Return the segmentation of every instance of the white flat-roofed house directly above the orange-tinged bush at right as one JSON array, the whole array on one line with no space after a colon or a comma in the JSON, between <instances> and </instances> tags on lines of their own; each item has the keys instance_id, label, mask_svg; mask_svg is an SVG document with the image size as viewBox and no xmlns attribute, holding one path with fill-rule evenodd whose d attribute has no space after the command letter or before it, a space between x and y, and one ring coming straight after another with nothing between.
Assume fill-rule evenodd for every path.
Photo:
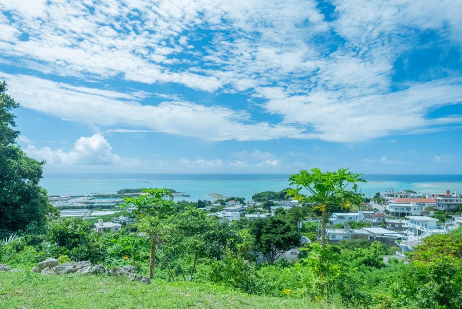
<instances>
[{"instance_id":1,"label":"white flat-roofed house directly above the orange-tinged bush at right","mask_svg":"<svg viewBox=\"0 0 462 309\"><path fill-rule=\"evenodd\" d=\"M406 216L409 219L405 227L407 240L419 241L433 234L446 234L448 229L437 224L438 219L427 216Z\"/></svg>"}]
</instances>

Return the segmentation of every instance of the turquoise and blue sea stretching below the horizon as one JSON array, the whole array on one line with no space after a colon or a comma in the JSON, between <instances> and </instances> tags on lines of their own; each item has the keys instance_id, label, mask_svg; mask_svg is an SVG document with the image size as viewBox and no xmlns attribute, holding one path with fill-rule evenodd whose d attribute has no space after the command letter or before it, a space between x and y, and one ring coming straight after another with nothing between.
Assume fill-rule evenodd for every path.
<instances>
[{"instance_id":1,"label":"turquoise and blue sea stretching below the horizon","mask_svg":"<svg viewBox=\"0 0 462 309\"><path fill-rule=\"evenodd\" d=\"M40 184L50 195L115 193L130 188L169 188L184 192L188 201L213 200L210 193L250 199L262 191L280 191L289 186L288 174L146 174L146 173L45 173ZM364 174L359 188L365 196L389 188L416 192L462 191L462 175L455 174Z\"/></svg>"}]
</instances>

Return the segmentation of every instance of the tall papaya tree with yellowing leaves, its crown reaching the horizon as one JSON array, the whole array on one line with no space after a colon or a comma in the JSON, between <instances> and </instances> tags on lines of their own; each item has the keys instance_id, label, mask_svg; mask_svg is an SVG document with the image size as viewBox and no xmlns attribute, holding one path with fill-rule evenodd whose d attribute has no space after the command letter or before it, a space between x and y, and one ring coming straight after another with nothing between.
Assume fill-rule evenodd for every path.
<instances>
[{"instance_id":1,"label":"tall papaya tree with yellowing leaves, its crown reaching the horizon","mask_svg":"<svg viewBox=\"0 0 462 309\"><path fill-rule=\"evenodd\" d=\"M361 196L356 193L358 182L366 182L359 178L361 174L348 172L348 169L339 169L337 172L322 173L319 168L313 168L310 172L301 170L298 174L290 176L291 185L297 185L296 189L287 190L289 196L300 200L302 203L314 205L313 209L322 212L321 218L321 246L326 243L326 221L332 207L342 206L345 209L361 203ZM353 191L346 190L348 185ZM311 195L300 194L302 188L308 190Z\"/></svg>"}]
</instances>

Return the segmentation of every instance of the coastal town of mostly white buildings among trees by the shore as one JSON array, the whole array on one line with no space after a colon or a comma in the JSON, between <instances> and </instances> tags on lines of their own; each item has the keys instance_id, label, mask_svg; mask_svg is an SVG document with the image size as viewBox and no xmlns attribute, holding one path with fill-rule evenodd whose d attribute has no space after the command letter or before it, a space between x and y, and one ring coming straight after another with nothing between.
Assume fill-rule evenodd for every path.
<instances>
[{"instance_id":1,"label":"coastal town of mostly white buildings among trees by the shore","mask_svg":"<svg viewBox=\"0 0 462 309\"><path fill-rule=\"evenodd\" d=\"M141 192L132 190L130 194L139 195ZM220 199L215 202L204 203L203 210L207 216L215 216L220 222L240 220L267 219L279 211L290 210L294 207L302 207L298 200L269 200L272 204L263 208L266 202L226 200L225 196L214 193ZM114 233L123 225L132 224L135 219L129 217L133 209L127 208L127 216L119 216L124 210L119 206L124 204L122 196L98 195L89 197L59 196L50 197L54 207L60 209L60 215L66 217L81 217L84 220L99 218L94 224L97 232L109 231ZM221 203L219 203L221 201ZM87 208L79 208L85 207ZM91 209L88 209L91 206ZM69 208L71 207L71 208ZM447 234L462 225L462 196L460 192L431 192L426 194L416 193L412 190L394 188L377 192L374 199L365 199L354 212L333 212L328 218L328 228L325 236L330 243L346 240L379 241L388 246L398 246L395 257L402 259L406 252L413 251L427 236L435 234ZM435 217L436 213L446 214L447 219L442 221ZM104 222L103 217L109 222ZM319 217L303 218L298 222L302 229L305 223L319 223ZM364 225L354 229L353 225ZM319 225L319 224L318 224ZM339 228L339 226L342 226ZM306 236L301 239L301 244L319 240L320 230L317 229L316 239L310 240ZM292 248L281 254L278 259L298 259L298 247ZM260 262L264 258L260 257Z\"/></svg>"}]
</instances>

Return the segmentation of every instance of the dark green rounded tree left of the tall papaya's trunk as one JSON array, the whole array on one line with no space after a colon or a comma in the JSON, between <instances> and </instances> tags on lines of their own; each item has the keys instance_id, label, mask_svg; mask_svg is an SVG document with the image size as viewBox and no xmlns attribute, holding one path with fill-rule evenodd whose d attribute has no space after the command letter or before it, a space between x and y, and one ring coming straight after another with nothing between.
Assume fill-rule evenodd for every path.
<instances>
[{"instance_id":1,"label":"dark green rounded tree left of the tall papaya's trunk","mask_svg":"<svg viewBox=\"0 0 462 309\"><path fill-rule=\"evenodd\" d=\"M256 219L250 233L255 238L255 251L273 264L287 250L300 245L300 230L283 216Z\"/></svg>"}]
</instances>

